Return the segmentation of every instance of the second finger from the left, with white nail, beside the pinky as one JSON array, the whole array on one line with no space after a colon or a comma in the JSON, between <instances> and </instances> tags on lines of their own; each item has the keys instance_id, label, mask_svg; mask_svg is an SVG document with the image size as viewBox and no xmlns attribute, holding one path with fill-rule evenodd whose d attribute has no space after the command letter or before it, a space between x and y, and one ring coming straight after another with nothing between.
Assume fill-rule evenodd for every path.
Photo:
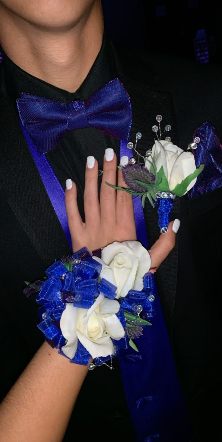
<instances>
[{"instance_id":1,"label":"second finger from the left, with white nail, beside the pinky","mask_svg":"<svg viewBox=\"0 0 222 442\"><path fill-rule=\"evenodd\" d=\"M98 224L100 208L98 200L98 162L94 156L87 157L84 189L84 211L86 225Z\"/></svg>"}]
</instances>

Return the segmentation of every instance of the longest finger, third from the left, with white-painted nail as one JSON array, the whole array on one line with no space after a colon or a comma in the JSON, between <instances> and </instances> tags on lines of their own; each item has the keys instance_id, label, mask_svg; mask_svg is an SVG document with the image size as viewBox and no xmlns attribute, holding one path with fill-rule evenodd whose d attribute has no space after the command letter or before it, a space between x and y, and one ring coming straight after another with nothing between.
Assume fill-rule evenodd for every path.
<instances>
[{"instance_id":1,"label":"longest finger, third from the left, with white-painted nail","mask_svg":"<svg viewBox=\"0 0 222 442\"><path fill-rule=\"evenodd\" d=\"M104 223L116 221L116 191L106 183L116 185L117 156L113 149L105 149L102 184L100 191L100 215Z\"/></svg>"}]
</instances>

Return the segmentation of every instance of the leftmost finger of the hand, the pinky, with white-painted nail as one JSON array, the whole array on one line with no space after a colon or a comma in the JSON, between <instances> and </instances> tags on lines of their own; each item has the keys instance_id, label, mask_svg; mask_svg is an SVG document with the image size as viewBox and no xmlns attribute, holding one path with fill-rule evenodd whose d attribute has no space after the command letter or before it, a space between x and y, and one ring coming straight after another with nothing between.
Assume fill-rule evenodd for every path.
<instances>
[{"instance_id":1,"label":"leftmost finger of the hand, the pinky, with white-painted nail","mask_svg":"<svg viewBox=\"0 0 222 442\"><path fill-rule=\"evenodd\" d=\"M67 179L65 191L65 207L68 217L68 226L71 235L73 250L77 247L77 245L74 243L76 242L76 239L81 236L84 228L82 218L79 215L76 197L76 185L73 181L71 181L71 179Z\"/></svg>"}]
</instances>

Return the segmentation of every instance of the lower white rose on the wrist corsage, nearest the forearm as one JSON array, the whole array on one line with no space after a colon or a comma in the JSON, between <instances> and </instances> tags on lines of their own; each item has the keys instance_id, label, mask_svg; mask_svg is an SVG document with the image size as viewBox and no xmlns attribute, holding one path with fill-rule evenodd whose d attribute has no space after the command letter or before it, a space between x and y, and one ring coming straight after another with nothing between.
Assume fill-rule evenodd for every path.
<instances>
[{"instance_id":1,"label":"lower white rose on the wrist corsage, nearest the forearm","mask_svg":"<svg viewBox=\"0 0 222 442\"><path fill-rule=\"evenodd\" d=\"M102 293L90 309L78 309L67 303L60 319L62 335L67 339L63 353L72 359L78 346L78 339L92 358L114 354L112 339L124 337L125 331L117 318L120 309L118 301L105 298Z\"/></svg>"}]
</instances>

